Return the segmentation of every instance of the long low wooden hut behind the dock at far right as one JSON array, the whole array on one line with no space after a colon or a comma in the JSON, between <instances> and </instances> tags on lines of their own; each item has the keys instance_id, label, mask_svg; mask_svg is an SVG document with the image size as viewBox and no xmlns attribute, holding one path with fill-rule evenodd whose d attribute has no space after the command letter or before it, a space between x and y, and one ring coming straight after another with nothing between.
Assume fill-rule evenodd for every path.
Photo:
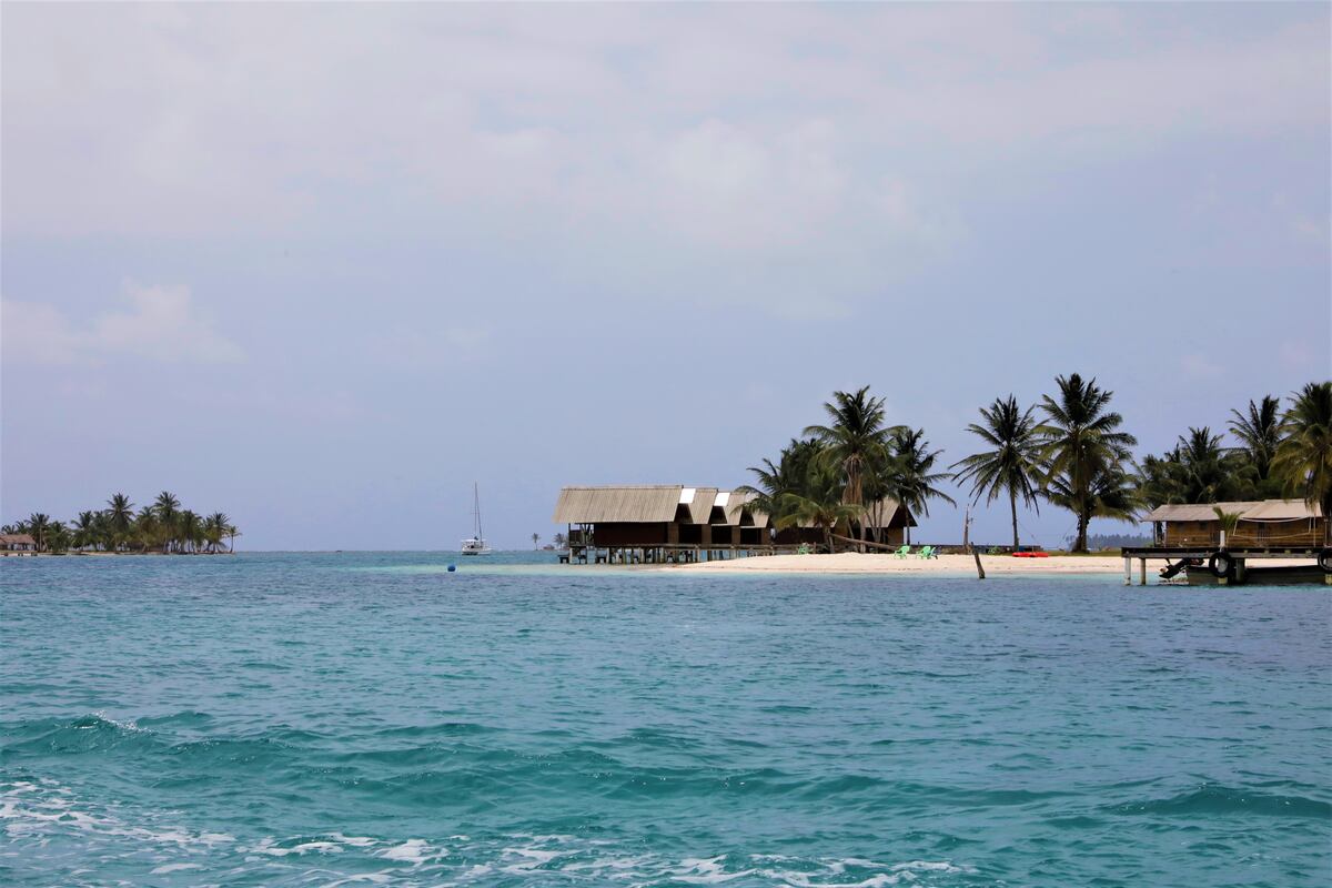
<instances>
[{"instance_id":1,"label":"long low wooden hut behind the dock at far right","mask_svg":"<svg viewBox=\"0 0 1332 888\"><path fill-rule=\"evenodd\" d=\"M1235 530L1227 535L1231 549L1283 549L1327 546L1328 522L1317 506L1300 501L1259 499L1221 503L1171 503L1158 506L1143 517L1152 522L1158 546L1183 549L1216 549L1221 545L1220 509L1239 515Z\"/></svg>"}]
</instances>

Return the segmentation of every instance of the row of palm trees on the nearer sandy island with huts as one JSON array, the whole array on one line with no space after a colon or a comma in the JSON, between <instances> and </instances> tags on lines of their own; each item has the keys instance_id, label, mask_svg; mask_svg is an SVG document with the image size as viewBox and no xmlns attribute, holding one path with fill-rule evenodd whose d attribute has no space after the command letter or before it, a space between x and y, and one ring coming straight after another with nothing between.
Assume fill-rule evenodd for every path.
<instances>
[{"instance_id":1,"label":"row of palm trees on the nearer sandy island with huts","mask_svg":"<svg viewBox=\"0 0 1332 888\"><path fill-rule=\"evenodd\" d=\"M823 405L826 425L806 427L777 459L751 466L755 482L739 490L777 529L818 527L829 547L834 533L872 539L886 498L924 517L931 501L954 503L938 486L948 479L970 486L972 505L1008 502L1014 547L1019 501L1072 513L1080 553L1092 518L1131 521L1163 503L1284 497L1332 515L1332 382L1305 385L1284 410L1272 395L1232 410L1233 445L1208 426L1191 427L1169 451L1142 462L1112 399L1078 373L1056 377L1054 391L1026 407L1012 394L995 398L967 426L982 449L943 469L943 451L930 449L924 430L888 425L883 398L868 386L835 391ZM910 542L910 527L907 534Z\"/></svg>"}]
</instances>

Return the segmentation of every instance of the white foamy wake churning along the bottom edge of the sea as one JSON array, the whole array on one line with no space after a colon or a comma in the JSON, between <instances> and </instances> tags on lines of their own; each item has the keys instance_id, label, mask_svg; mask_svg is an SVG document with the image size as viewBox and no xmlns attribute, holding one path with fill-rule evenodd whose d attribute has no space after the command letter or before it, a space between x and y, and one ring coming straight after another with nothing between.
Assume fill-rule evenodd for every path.
<instances>
[{"instance_id":1,"label":"white foamy wake churning along the bottom edge of the sea","mask_svg":"<svg viewBox=\"0 0 1332 888\"><path fill-rule=\"evenodd\" d=\"M880 861L866 857L729 852L673 857L643 851L637 841L577 835L501 833L433 837L344 835L341 832L242 840L197 832L161 816L143 823L128 812L93 811L51 780L0 783L0 821L11 845L39 864L61 835L95 835L116 841L117 867L140 867L156 884L496 884L511 879L546 884L597 885L607 881L645 888L679 884L786 885L789 888L883 888L910 884L975 884L971 865L952 860ZM99 845L107 849L108 845ZM137 864L135 863L137 861ZM43 869L59 873L59 859ZM55 869L51 869L55 867ZM55 876L92 884L89 871ZM517 884L517 883L514 883Z\"/></svg>"}]
</instances>

